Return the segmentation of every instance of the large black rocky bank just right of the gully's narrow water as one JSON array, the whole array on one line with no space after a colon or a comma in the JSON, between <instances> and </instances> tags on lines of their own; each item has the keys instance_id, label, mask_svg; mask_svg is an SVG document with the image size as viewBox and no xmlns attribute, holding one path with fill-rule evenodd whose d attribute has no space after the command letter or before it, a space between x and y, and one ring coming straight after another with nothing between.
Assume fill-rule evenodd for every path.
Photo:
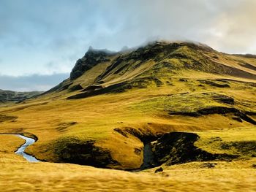
<instances>
[{"instance_id":1,"label":"large black rocky bank just right of the gully's narrow water","mask_svg":"<svg viewBox=\"0 0 256 192\"><path fill-rule=\"evenodd\" d=\"M171 132L165 134L154 144L153 153L157 163L167 165L182 164L190 161L212 161L214 159L233 159L238 155L211 154L194 145L199 139L197 134Z\"/></svg>"}]
</instances>

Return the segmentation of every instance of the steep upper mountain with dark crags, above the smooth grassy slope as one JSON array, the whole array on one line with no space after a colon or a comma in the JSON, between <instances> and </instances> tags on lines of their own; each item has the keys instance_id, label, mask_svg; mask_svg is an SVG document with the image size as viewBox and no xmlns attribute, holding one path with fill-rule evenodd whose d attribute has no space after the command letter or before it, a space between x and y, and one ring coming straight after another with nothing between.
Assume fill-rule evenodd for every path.
<instances>
[{"instance_id":1,"label":"steep upper mountain with dark crags, above the smooth grassy slope","mask_svg":"<svg viewBox=\"0 0 256 192\"><path fill-rule=\"evenodd\" d=\"M152 42L145 47L116 53L90 48L76 62L70 78L47 93L81 90L82 93L70 99L83 98L136 86L146 87L153 82L160 85L167 77L192 71L256 80L253 58L252 55L219 53L207 45L193 42Z\"/></svg>"}]
</instances>

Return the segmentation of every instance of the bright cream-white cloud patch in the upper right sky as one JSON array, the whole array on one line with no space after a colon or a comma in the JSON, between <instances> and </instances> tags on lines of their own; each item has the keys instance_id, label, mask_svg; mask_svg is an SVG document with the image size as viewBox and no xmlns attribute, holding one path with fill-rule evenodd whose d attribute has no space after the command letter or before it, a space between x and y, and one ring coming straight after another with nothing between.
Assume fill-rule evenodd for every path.
<instances>
[{"instance_id":1,"label":"bright cream-white cloud patch in the upper right sky","mask_svg":"<svg viewBox=\"0 0 256 192\"><path fill-rule=\"evenodd\" d=\"M222 11L211 23L213 35L206 43L228 53L256 53L256 1L238 1L236 7Z\"/></svg>"}]
</instances>

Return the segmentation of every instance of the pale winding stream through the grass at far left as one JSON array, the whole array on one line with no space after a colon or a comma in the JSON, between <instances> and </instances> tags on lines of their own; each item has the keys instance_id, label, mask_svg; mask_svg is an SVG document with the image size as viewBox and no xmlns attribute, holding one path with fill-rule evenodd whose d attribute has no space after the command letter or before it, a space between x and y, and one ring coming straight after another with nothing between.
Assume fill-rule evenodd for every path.
<instances>
[{"instance_id":1,"label":"pale winding stream through the grass at far left","mask_svg":"<svg viewBox=\"0 0 256 192\"><path fill-rule=\"evenodd\" d=\"M29 145L34 144L34 142L36 142L35 139L29 138L29 137L25 137L21 134L15 134L16 136L26 140L26 143L24 143L23 145L21 145L18 150L15 151L16 154L23 156L23 158L26 158L27 161L29 162L39 162L39 160L37 158L35 158L33 155L29 155L27 153L25 153L26 147L29 147Z\"/></svg>"}]
</instances>

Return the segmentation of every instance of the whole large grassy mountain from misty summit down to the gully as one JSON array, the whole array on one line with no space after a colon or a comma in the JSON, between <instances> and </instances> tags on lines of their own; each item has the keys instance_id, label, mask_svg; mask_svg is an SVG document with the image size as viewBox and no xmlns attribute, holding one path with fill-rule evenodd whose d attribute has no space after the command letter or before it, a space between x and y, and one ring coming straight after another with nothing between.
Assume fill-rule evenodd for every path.
<instances>
[{"instance_id":1,"label":"whole large grassy mountain from misty summit down to the gully","mask_svg":"<svg viewBox=\"0 0 256 192\"><path fill-rule=\"evenodd\" d=\"M42 161L111 169L250 159L255 93L252 55L195 42L90 48L67 80L1 107L0 131L37 138L26 152Z\"/></svg>"}]
</instances>

